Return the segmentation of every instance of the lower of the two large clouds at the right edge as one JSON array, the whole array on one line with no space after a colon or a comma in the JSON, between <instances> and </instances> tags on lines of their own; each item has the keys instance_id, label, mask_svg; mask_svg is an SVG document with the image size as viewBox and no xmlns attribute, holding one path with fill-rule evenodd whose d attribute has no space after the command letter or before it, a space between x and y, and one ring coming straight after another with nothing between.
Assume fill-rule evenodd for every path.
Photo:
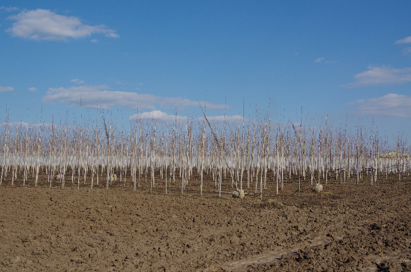
<instances>
[{"instance_id":1,"label":"lower of the two large clouds at the right edge","mask_svg":"<svg viewBox=\"0 0 411 272\"><path fill-rule=\"evenodd\" d=\"M357 114L411 118L411 96L387 94L378 98L356 101Z\"/></svg>"}]
</instances>

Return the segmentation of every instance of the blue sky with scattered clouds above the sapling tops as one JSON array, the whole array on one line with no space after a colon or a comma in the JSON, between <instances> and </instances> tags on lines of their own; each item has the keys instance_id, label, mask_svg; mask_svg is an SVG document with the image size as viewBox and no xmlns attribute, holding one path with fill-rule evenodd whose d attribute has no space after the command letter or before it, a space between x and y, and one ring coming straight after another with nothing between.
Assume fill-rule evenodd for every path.
<instances>
[{"instance_id":1,"label":"blue sky with scattered clouds above the sapling tops","mask_svg":"<svg viewBox=\"0 0 411 272\"><path fill-rule=\"evenodd\" d=\"M303 106L311 125L411 133L409 1L1 5L2 122L78 118L80 98L91 119L197 118L207 99L210 117L298 122Z\"/></svg>"}]
</instances>

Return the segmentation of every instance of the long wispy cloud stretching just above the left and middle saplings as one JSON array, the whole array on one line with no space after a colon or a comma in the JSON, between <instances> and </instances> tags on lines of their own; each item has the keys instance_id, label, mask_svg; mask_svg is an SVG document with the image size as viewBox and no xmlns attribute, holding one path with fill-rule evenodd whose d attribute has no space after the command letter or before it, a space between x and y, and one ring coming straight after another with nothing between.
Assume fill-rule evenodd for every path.
<instances>
[{"instance_id":1,"label":"long wispy cloud stretching just above the left and middle saplings","mask_svg":"<svg viewBox=\"0 0 411 272\"><path fill-rule=\"evenodd\" d=\"M198 107L197 101L192 101L180 97L159 97L149 94L138 94L130 92L120 92L108 90L106 85L90 86L72 86L69 88L49 88L43 102L52 103L60 101L69 106L79 106L80 99L82 105L91 108L111 108L114 106L123 106L127 108L138 108L146 110L156 110L157 106L171 107ZM206 104L207 109L222 110L223 104L215 104L200 101L201 105Z\"/></svg>"}]
</instances>

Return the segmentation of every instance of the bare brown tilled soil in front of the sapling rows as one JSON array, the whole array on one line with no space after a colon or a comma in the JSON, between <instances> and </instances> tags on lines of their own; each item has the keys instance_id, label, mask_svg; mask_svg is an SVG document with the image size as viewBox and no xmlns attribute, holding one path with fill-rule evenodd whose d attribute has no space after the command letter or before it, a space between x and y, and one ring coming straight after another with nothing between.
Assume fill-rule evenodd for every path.
<instances>
[{"instance_id":1,"label":"bare brown tilled soil in front of the sapling rows","mask_svg":"<svg viewBox=\"0 0 411 272\"><path fill-rule=\"evenodd\" d=\"M200 196L193 181L165 194L160 179L150 193L41 178L0 186L2 271L411 271L411 177L306 181L300 197L295 180L278 196L268 183L262 201L254 183L240 200L212 180Z\"/></svg>"}]
</instances>

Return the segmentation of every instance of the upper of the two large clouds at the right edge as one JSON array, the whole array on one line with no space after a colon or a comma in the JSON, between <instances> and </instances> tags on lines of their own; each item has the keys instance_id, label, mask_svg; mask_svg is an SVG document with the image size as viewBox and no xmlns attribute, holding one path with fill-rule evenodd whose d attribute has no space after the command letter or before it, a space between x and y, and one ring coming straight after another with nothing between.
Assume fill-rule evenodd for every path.
<instances>
[{"instance_id":1,"label":"upper of the two large clouds at the right edge","mask_svg":"<svg viewBox=\"0 0 411 272\"><path fill-rule=\"evenodd\" d=\"M411 68L395 69L390 66L368 66L367 71L354 76L355 82L344 85L347 88L378 84L404 84L411 82Z\"/></svg>"}]
</instances>

